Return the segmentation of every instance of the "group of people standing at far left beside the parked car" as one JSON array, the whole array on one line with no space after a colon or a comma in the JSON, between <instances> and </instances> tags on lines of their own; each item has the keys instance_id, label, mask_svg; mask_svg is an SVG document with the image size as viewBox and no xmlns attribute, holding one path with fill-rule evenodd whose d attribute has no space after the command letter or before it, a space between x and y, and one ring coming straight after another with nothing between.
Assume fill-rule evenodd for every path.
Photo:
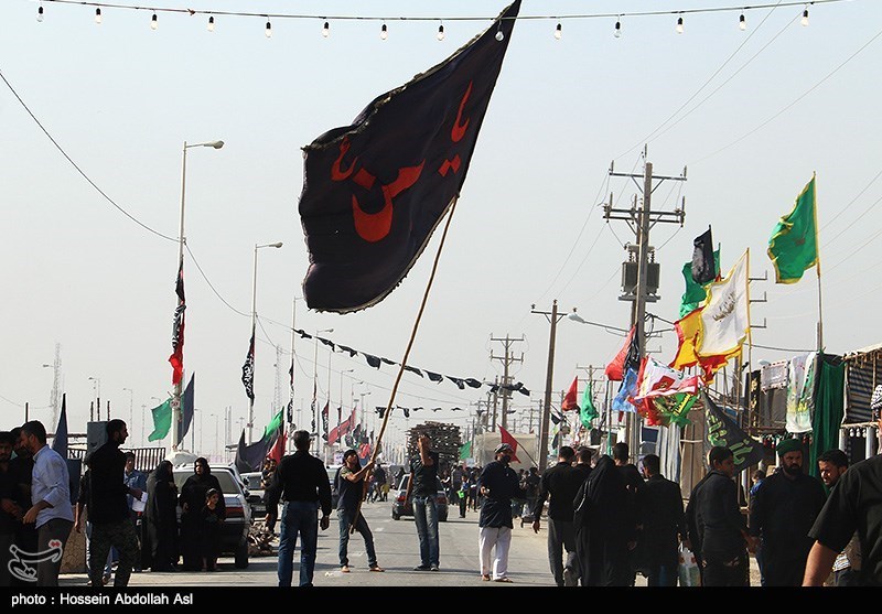
<instances>
[{"instance_id":1,"label":"group of people standing at far left beside the parked car","mask_svg":"<svg viewBox=\"0 0 882 614\"><path fill-rule=\"evenodd\" d=\"M170 461L149 474L136 468L135 453L120 450L126 422L105 428L107 440L80 476L46 445L42 422L0 431L0 586L57 586L72 531L85 531L83 562L93 586L112 580L125 588L132 572L147 569L217 570L226 514L208 462L196 459L179 493Z\"/></svg>"}]
</instances>

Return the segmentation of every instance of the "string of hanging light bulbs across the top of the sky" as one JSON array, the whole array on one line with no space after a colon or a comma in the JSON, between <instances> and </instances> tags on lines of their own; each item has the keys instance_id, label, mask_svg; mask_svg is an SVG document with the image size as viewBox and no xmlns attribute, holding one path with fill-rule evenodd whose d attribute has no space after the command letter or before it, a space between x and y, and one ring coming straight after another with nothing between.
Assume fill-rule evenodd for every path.
<instances>
[{"instance_id":1,"label":"string of hanging light bulbs across the top of the sky","mask_svg":"<svg viewBox=\"0 0 882 614\"><path fill-rule=\"evenodd\" d=\"M738 6L738 7L707 7L707 8L695 8L695 9L686 9L686 10L667 10L667 11L635 11L635 12L622 12L622 13L583 13L583 14L568 14L568 15L518 15L518 20L547 20L547 21L555 21L557 24L555 25L555 30L552 32L553 37L556 40L561 40L563 37L563 22L570 20L584 20L584 19L615 19L615 25L613 26L613 35L619 39L622 37L623 28L622 23L624 19L633 19L633 18L645 18L645 17L662 17L662 15L677 15L675 31L678 34L682 34L686 32L686 22L684 15L687 14L698 14L698 13L719 13L719 12L736 12L739 14L738 18L738 28L742 31L747 29L747 18L746 14L751 11L762 10L762 9L779 9L786 7L804 7L803 9L803 17L800 23L806 26L808 25L808 8L815 4L831 4L831 3L839 3L839 2L851 2L856 0L810 0L806 2L805 0L794 0L790 2L766 2L766 3L757 3L757 4L750 4L750 6ZM56 4L77 4L77 6L85 6L85 7L95 7L95 23L100 24L103 22L103 14L101 9L119 9L119 10L132 10L132 11L149 11L151 13L150 17L150 29L158 30L159 29L159 14L160 13L181 13L187 14L190 17L194 15L206 15L207 17L207 30L208 32L215 31L215 23L216 18L219 17L237 17L237 18L262 18L266 19L266 25L263 28L265 35L267 39L272 37L272 22L271 20L287 20L287 19L295 19L295 20L315 20L322 23L321 28L321 35L323 37L329 37L331 35L331 22L332 21L379 21L380 24L380 32L379 37L381 40L387 40L389 36L389 28L386 21L437 21L438 25L438 33L435 37L439 41L444 40L444 21L493 21L495 17L367 17L367 15L315 15L315 14L298 14L298 13L254 13L254 12L240 12L240 11L216 11L211 9L203 9L203 10L195 10L195 9L179 9L179 8L160 8L160 7L132 7L129 4L115 4L108 2L83 2L79 0L41 0L40 4L36 10L36 20L43 21L45 17L45 10L43 4L49 3L56 3ZM497 33L497 37L502 35L502 32Z\"/></svg>"}]
</instances>

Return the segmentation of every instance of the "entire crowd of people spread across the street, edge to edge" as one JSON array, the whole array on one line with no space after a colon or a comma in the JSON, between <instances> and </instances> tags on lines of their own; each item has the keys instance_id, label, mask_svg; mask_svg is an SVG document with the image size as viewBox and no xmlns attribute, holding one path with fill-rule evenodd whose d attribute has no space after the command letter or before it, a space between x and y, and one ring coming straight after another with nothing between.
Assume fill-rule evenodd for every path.
<instances>
[{"instance_id":1,"label":"entire crowd of people spread across the street, edge to edge","mask_svg":"<svg viewBox=\"0 0 882 614\"><path fill-rule=\"evenodd\" d=\"M872 410L882 429L882 386L876 392ZM0 585L56 586L71 532L84 529L93 586L112 575L114 586L125 588L132 572L174 571L179 563L187 571L217 570L226 509L208 462L196 459L179 492L171 462L148 475L136 468L135 454L120 450L128 438L122 420L109 420L106 434L86 460L74 500L68 464L46 445L41 422L0 432ZM309 451L310 433L297 431L293 443L295 452L263 475L267 525L281 524L280 586L292 584L298 540L298 583L312 585L318 531L329 528L333 507L324 463ZM399 484L410 476L415 571L440 570L440 481L460 517L478 513L476 568L483 581L513 582L514 520L538 534L545 514L549 567L559 586L633 586L638 573L649 586L676 586L682 549L695 553L706 586L750 585L751 553L764 586L882 584L882 455L850 467L845 452L829 450L817 459L816 478L800 440L786 439L777 445L775 471L754 472L745 515L729 448L710 450L708 473L686 506L657 455L643 456L638 468L621 442L611 455L563 445L541 475L537 467L516 472L514 452L502 443L483 467L442 467L431 438L418 438L407 468L392 476ZM369 571L383 572L361 505L386 500L391 472L374 461L362 464L355 450L343 461L336 483L341 572L349 572L354 532L364 539Z\"/></svg>"}]
</instances>

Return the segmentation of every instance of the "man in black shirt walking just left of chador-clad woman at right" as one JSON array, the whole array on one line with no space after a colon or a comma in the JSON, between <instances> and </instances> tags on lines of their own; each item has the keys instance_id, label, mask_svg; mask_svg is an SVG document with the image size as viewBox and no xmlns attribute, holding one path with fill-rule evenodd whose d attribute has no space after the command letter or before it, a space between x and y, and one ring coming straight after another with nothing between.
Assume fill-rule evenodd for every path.
<instances>
[{"instance_id":1,"label":"man in black shirt walking just left of chador-clad woman at right","mask_svg":"<svg viewBox=\"0 0 882 614\"><path fill-rule=\"evenodd\" d=\"M562 445L558 463L545 470L539 483L539 496L533 508L533 530L539 532L542 507L548 504L548 562L558 586L576 586L579 582L579 559L576 556L576 527L572 524L572 507L576 492L588 474L577 473L572 466L576 452ZM566 562L563 550L567 551Z\"/></svg>"}]
</instances>

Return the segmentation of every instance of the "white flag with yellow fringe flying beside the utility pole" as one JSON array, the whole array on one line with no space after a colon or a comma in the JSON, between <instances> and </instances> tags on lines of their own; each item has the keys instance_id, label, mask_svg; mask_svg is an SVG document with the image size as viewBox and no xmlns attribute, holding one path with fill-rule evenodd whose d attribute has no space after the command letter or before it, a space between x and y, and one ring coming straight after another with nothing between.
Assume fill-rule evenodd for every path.
<instances>
[{"instance_id":1,"label":"white flag with yellow fringe flying beside the utility pole","mask_svg":"<svg viewBox=\"0 0 882 614\"><path fill-rule=\"evenodd\" d=\"M708 287L696 344L699 356L731 354L741 348L747 338L751 325L749 261L750 250L744 252L725 279Z\"/></svg>"}]
</instances>

